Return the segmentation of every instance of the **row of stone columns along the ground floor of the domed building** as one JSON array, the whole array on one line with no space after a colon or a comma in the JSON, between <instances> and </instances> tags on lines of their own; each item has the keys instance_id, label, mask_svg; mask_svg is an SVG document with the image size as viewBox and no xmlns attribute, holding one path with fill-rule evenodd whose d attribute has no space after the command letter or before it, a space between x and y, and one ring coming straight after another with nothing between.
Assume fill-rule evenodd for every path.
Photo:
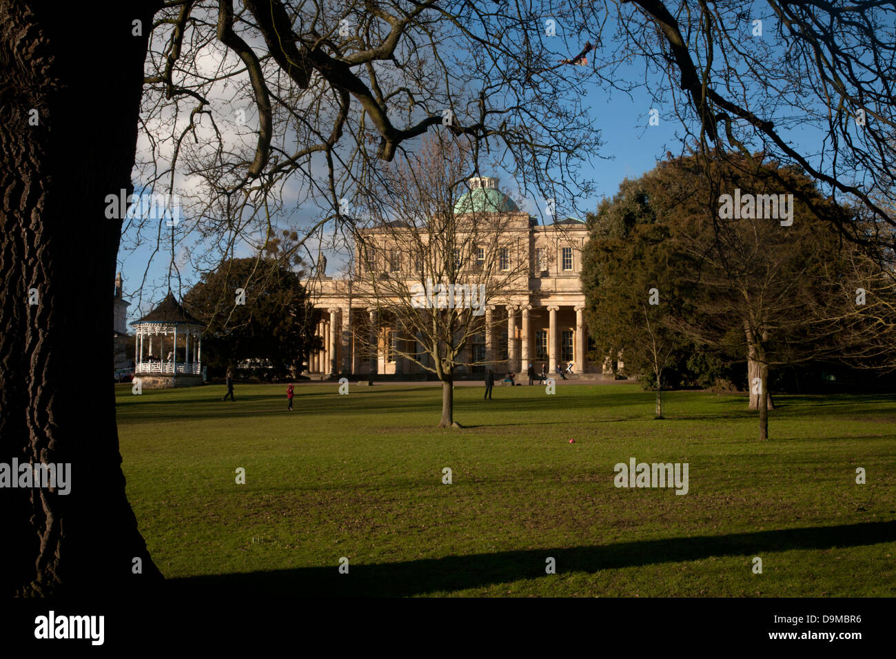
<instances>
[{"instance_id":1,"label":"row of stone columns along the ground floor of the domed building","mask_svg":"<svg viewBox=\"0 0 896 659\"><path fill-rule=\"evenodd\" d=\"M573 373L601 372L602 364L587 360L588 336L584 323L582 301L558 300L551 303L511 301L507 304L491 304L485 308L485 332L479 345L485 343L486 364L495 374L513 371L524 378L529 365L538 373L545 364L550 373L559 364L573 362ZM320 377L341 375L392 375L414 376L426 373L426 369L412 360L403 359L391 350L391 343L399 351L419 353L417 336L399 336L385 333L392 330L387 318L379 317L376 308L321 306L323 317L315 334L322 339L323 349L315 351L308 360L307 373ZM393 330L392 330L393 331ZM362 336L358 332L369 333ZM393 343L394 342L394 343ZM506 343L506 350L504 350ZM362 348L376 345L375 354L365 359ZM473 361L473 346L461 352L461 361ZM426 357L424 357L426 359ZM481 359L481 357L479 358ZM538 363L536 363L538 362ZM426 363L429 363L427 360ZM470 367L458 369L458 376L471 374Z\"/></svg>"}]
</instances>

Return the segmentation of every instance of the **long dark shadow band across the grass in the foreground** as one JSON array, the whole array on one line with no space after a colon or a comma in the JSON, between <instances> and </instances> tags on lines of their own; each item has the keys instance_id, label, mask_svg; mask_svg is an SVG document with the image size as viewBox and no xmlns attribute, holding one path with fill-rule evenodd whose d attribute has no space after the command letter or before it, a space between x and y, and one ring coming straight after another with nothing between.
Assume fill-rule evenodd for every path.
<instances>
[{"instance_id":1,"label":"long dark shadow band across the grass in the foreground","mask_svg":"<svg viewBox=\"0 0 896 659\"><path fill-rule=\"evenodd\" d=\"M339 556L334 553L332 566L325 568L185 577L169 580L166 589L168 594L203 597L213 594L232 597L246 593L292 597L403 597L544 577L548 557L556 559L558 573L594 573L602 569L700 560L711 556L741 557L746 570L754 556L762 557L771 551L824 550L893 541L896 541L896 522L870 522L350 565L349 575L339 573Z\"/></svg>"}]
</instances>

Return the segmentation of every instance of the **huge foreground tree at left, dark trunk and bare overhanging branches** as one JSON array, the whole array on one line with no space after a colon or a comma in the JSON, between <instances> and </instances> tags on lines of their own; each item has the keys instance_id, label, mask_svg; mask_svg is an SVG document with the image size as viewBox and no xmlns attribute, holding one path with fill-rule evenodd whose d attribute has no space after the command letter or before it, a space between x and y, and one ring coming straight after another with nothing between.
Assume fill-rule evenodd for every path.
<instances>
[{"instance_id":1,"label":"huge foreground tree at left, dark trunk and bare overhanging branches","mask_svg":"<svg viewBox=\"0 0 896 659\"><path fill-rule=\"evenodd\" d=\"M320 212L285 227L300 231L297 250L328 222L350 233L341 198L430 131L470 138L477 169L507 169L561 210L588 194L577 167L599 141L577 77L527 79L556 56L521 47L544 31L536 5L4 0L0 15L0 458L70 463L79 483L67 498L3 490L6 593L160 577L125 498L108 389L123 231L125 247L168 252L182 295L187 260L211 270L246 243L261 252L303 202ZM181 203L167 218L108 204L135 189Z\"/></svg>"}]
</instances>

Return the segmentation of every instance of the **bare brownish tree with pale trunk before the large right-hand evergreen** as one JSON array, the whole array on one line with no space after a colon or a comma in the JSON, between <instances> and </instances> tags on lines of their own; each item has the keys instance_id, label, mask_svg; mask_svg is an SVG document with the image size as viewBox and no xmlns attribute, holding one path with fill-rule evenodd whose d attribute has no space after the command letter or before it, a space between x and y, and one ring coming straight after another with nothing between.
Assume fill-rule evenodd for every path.
<instances>
[{"instance_id":1,"label":"bare brownish tree with pale trunk before the large right-hand evergreen","mask_svg":"<svg viewBox=\"0 0 896 659\"><path fill-rule=\"evenodd\" d=\"M753 158L760 160L758 155ZM724 162L714 166L727 167ZM682 162L676 167L682 167ZM796 201L814 195L814 207L830 206L824 210L828 217L840 214L844 222L850 217L849 209L820 198L813 181L793 169L767 162L752 179L740 178L737 170L719 175L732 190L743 186L763 193L755 196L754 211L742 215L738 209L737 216L720 222L718 203L715 216L701 212L702 206L711 204L704 179L686 172L670 167L658 174L665 177L670 193L666 203L658 206L658 216L669 218L675 226L676 245L699 264L689 286L691 309L676 319L677 326L696 343L745 355L750 407L759 411L760 438L765 439L771 409L770 368L839 360L849 352L866 350L863 346L869 340L878 343L866 332L842 334L849 325L857 328L860 318L860 308L843 294L861 283L849 264L867 267L873 263L862 256L861 246L843 240L830 225L818 221L807 205ZM791 192L770 194L776 178L783 178L783 189ZM779 210L782 203L786 205L787 195L793 201L785 219ZM685 197L687 202L682 201ZM773 216L766 204L769 197L778 204ZM753 201L751 197L745 204Z\"/></svg>"}]
</instances>

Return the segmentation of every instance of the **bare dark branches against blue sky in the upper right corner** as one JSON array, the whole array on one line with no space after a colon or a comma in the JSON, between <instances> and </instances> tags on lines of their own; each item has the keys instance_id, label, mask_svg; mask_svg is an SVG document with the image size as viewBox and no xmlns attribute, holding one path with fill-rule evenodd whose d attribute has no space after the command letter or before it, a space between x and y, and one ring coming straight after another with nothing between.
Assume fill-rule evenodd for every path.
<instances>
[{"instance_id":1,"label":"bare dark branches against blue sky in the upper right corner","mask_svg":"<svg viewBox=\"0 0 896 659\"><path fill-rule=\"evenodd\" d=\"M683 151L696 146L704 154L705 174L709 160L734 153L729 165L744 168L752 166L744 158L763 152L805 170L823 198L863 206L874 222L864 230L800 195L815 217L859 244L896 247L896 6L606 0L578 7L574 28L598 44L596 78L609 90L620 61L641 63L652 109L681 126ZM818 139L796 143L788 131L800 129Z\"/></svg>"}]
</instances>

